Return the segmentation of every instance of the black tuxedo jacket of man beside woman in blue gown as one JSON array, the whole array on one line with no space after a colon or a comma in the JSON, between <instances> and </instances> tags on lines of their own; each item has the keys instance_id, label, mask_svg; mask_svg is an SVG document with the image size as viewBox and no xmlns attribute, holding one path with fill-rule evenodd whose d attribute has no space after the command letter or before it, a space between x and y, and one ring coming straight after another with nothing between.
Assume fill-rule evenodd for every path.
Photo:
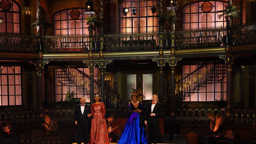
<instances>
[{"instance_id":1,"label":"black tuxedo jacket of man beside woman in blue gown","mask_svg":"<svg viewBox=\"0 0 256 144\"><path fill-rule=\"evenodd\" d=\"M157 102L153 109L153 112L151 112L151 106L152 102L148 102L145 110L144 120L147 121L147 123L159 124L159 117L163 115L162 104ZM151 113L154 113L155 116L150 116Z\"/></svg>"}]
</instances>

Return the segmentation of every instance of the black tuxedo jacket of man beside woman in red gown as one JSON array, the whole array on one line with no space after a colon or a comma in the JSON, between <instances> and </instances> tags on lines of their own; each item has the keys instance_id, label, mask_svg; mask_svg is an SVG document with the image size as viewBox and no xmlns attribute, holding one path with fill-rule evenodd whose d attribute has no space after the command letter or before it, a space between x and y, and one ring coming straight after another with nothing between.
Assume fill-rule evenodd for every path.
<instances>
[{"instance_id":1,"label":"black tuxedo jacket of man beside woman in red gown","mask_svg":"<svg viewBox=\"0 0 256 144\"><path fill-rule=\"evenodd\" d=\"M74 121L77 121L77 124L88 124L88 114L91 113L90 106L87 104L84 104L84 113L82 114L81 111L81 104L76 105L75 111L74 111Z\"/></svg>"}]
</instances>

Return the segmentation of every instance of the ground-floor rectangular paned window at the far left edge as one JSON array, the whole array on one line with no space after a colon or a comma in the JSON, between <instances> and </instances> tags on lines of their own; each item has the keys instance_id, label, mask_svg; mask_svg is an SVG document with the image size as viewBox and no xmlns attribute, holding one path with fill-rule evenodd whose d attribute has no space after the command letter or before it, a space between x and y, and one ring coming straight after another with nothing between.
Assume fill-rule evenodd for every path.
<instances>
[{"instance_id":1,"label":"ground-floor rectangular paned window at the far left edge","mask_svg":"<svg viewBox=\"0 0 256 144\"><path fill-rule=\"evenodd\" d=\"M0 106L21 105L20 66L0 66Z\"/></svg>"}]
</instances>

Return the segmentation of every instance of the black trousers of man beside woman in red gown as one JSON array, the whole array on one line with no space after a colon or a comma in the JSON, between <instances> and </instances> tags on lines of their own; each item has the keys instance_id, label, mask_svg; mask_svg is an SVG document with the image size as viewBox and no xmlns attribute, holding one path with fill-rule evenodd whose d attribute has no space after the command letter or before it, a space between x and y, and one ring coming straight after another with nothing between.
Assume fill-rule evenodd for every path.
<instances>
[{"instance_id":1,"label":"black trousers of man beside woman in red gown","mask_svg":"<svg viewBox=\"0 0 256 144\"><path fill-rule=\"evenodd\" d=\"M83 135L84 144L88 143L88 124L77 124L77 144L81 144Z\"/></svg>"}]
</instances>

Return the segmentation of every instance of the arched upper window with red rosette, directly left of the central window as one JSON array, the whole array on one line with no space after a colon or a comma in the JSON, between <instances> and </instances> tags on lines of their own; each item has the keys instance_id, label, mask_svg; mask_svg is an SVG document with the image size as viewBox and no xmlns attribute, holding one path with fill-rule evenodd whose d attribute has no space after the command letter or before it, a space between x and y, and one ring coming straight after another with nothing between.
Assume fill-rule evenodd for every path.
<instances>
[{"instance_id":1,"label":"arched upper window with red rosette, directly left of the central window","mask_svg":"<svg viewBox=\"0 0 256 144\"><path fill-rule=\"evenodd\" d=\"M54 34L89 34L88 25L86 25L86 18L89 15L84 12L84 8L56 12L53 16Z\"/></svg>"}]
</instances>

